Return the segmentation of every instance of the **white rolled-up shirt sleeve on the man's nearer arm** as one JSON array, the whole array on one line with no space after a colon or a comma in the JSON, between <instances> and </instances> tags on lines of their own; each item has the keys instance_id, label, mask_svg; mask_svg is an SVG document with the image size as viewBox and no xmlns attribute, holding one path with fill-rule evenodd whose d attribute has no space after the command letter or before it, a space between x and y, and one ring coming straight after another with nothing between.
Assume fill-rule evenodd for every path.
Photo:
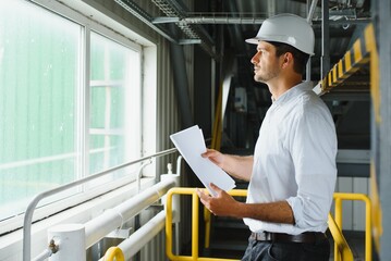
<instances>
[{"instance_id":1,"label":"white rolled-up shirt sleeve on the man's nearer arm","mask_svg":"<svg viewBox=\"0 0 391 261\"><path fill-rule=\"evenodd\" d=\"M328 219L335 186L335 128L328 112L311 111L297 117L289 138L297 195L286 201L296 227L317 227Z\"/></svg>"}]
</instances>

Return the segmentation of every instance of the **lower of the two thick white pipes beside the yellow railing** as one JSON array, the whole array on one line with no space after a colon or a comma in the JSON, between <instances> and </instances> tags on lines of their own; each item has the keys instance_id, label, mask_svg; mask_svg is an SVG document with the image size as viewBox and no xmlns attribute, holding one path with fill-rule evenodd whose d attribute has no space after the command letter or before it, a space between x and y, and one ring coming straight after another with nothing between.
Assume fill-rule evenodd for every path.
<instances>
[{"instance_id":1,"label":"lower of the two thick white pipes beside the yellow railing","mask_svg":"<svg viewBox=\"0 0 391 261\"><path fill-rule=\"evenodd\" d=\"M135 256L148 241L150 241L166 225L166 211L160 211L150 221L144 224L127 239L122 241L118 247L125 256L125 260L130 260ZM103 259L100 259L102 261Z\"/></svg>"}]
</instances>

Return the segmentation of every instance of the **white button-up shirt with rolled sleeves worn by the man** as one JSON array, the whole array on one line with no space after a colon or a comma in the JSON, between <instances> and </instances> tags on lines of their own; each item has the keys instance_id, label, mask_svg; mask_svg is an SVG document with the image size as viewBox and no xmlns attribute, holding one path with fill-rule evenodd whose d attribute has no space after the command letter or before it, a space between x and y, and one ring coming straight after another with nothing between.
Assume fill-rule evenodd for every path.
<instances>
[{"instance_id":1,"label":"white button-up shirt with rolled sleeves worn by the man","mask_svg":"<svg viewBox=\"0 0 391 261\"><path fill-rule=\"evenodd\" d=\"M337 179L335 126L323 101L302 83L269 108L254 152L248 203L286 200L295 224L244 219L252 232L325 232Z\"/></svg>"}]
</instances>

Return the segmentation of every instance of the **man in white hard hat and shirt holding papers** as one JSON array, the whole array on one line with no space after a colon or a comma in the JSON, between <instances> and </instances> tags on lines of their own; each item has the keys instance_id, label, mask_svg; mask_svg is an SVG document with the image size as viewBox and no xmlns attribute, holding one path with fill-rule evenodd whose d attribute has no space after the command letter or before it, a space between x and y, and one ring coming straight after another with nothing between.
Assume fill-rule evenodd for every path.
<instances>
[{"instance_id":1,"label":"man in white hard hat and shirt holding papers","mask_svg":"<svg viewBox=\"0 0 391 261\"><path fill-rule=\"evenodd\" d=\"M211 184L217 197L198 190L216 215L244 219L252 231L242 260L329 260L325 235L337 169L337 137L327 105L302 82L314 54L314 30L302 17L280 14L266 20L252 59L254 79L272 95L254 157L207 150L230 175L249 182L246 202Z\"/></svg>"}]
</instances>

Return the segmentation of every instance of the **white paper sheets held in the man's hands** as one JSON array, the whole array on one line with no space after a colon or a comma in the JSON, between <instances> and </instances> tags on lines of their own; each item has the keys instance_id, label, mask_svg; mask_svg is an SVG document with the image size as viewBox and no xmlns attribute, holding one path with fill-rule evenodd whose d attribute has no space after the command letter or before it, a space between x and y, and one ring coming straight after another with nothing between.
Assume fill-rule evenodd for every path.
<instances>
[{"instance_id":1,"label":"white paper sheets held in the man's hands","mask_svg":"<svg viewBox=\"0 0 391 261\"><path fill-rule=\"evenodd\" d=\"M216 192L210 188L210 183L213 183L225 191L235 187L235 181L230 175L209 159L201 157L201 153L206 151L206 146L203 130L198 125L172 134L170 138L187 164L192 167L193 172L212 196L216 196Z\"/></svg>"}]
</instances>

